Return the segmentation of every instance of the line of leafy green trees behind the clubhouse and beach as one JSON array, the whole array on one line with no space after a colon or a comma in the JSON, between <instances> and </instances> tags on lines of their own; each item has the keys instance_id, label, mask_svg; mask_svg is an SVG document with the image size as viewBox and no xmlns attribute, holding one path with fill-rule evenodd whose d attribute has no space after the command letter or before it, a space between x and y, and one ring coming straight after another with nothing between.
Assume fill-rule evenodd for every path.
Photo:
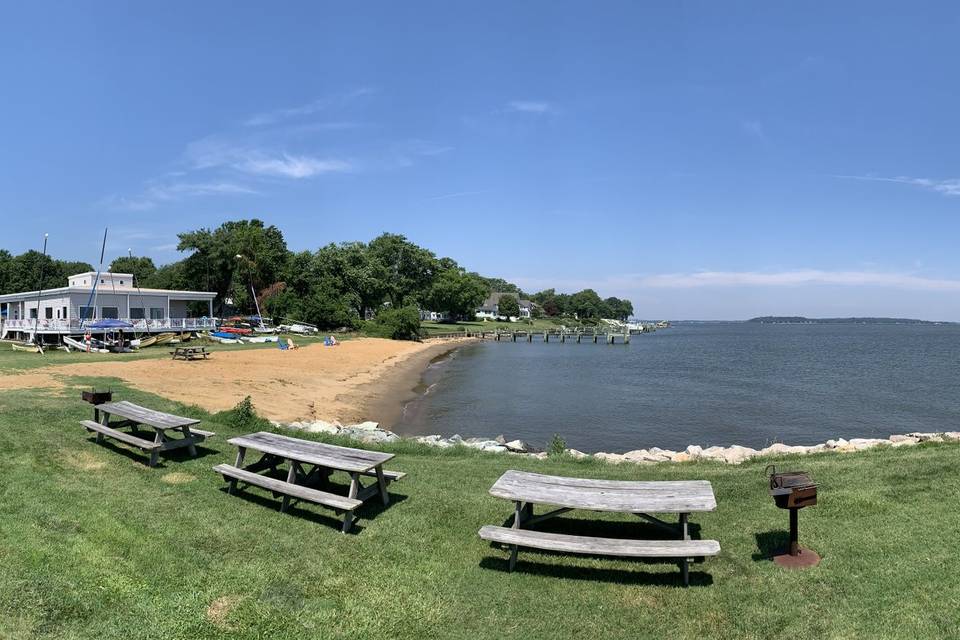
<instances>
[{"instance_id":1,"label":"line of leafy green trees behind the clubhouse and beach","mask_svg":"<svg viewBox=\"0 0 960 640\"><path fill-rule=\"evenodd\" d=\"M437 257L393 233L370 242L294 252L280 229L251 219L180 233L178 239L177 249L187 254L182 260L158 267L149 257L123 256L109 269L132 273L142 288L214 291L220 317L235 310L252 312L256 295L264 315L325 329L356 328L387 309L394 314L428 309L453 319L473 319L493 291L532 300L538 305L534 315L589 320L626 319L633 313L630 301L601 299L592 289L527 295L512 283L468 272L454 259ZM68 275L94 268L37 251L13 256L0 250L0 292L35 290L41 270L43 288L49 289L64 286Z\"/></svg>"}]
</instances>

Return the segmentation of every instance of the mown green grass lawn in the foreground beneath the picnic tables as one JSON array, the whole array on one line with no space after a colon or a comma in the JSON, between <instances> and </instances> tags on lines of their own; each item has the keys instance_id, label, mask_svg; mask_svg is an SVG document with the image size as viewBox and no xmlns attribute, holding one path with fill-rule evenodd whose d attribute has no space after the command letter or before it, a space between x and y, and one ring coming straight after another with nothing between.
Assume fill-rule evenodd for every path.
<instances>
[{"instance_id":1,"label":"mown green grass lawn in the foreground beneath the picnic tables","mask_svg":"<svg viewBox=\"0 0 960 640\"><path fill-rule=\"evenodd\" d=\"M6 360L0 362L6 367ZM3 375L3 369L0 369ZM319 507L280 514L251 490L228 496L211 471L238 430L195 407L110 385L118 399L203 419L217 437L196 459L98 445L77 379L61 391L0 392L0 638L943 638L960 628L960 447L927 444L782 461L820 482L800 514L822 564L767 559L787 512L763 467L538 462L394 445L409 475L393 503L339 532ZM101 383L103 381L100 381ZM477 537L512 506L487 490L506 469L713 483L719 508L693 533L722 553L680 586L673 564L521 552ZM592 514L551 530L657 535Z\"/></svg>"}]
</instances>

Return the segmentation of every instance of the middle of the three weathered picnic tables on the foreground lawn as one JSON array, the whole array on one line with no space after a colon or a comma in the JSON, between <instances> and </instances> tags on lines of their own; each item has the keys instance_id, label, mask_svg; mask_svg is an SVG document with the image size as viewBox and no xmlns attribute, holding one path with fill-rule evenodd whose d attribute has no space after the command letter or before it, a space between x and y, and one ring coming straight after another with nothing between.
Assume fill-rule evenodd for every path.
<instances>
[{"instance_id":1,"label":"middle of the three weathered picnic tables on the foreground lawn","mask_svg":"<svg viewBox=\"0 0 960 640\"><path fill-rule=\"evenodd\" d=\"M282 496L281 512L287 510L291 498L330 507L343 512L344 533L353 525L353 512L370 497L379 494L384 506L390 504L387 485L406 475L384 470L383 465L393 458L392 453L338 447L266 431L231 438L227 442L237 447L236 464L218 464L213 470L229 482L228 493L233 494L237 483L243 482ZM259 452L261 457L244 467L247 450ZM286 480L260 473L269 471L277 475L279 467L284 464L288 467ZM346 496L325 490L332 488L330 476L335 471L350 476ZM365 487L361 478L376 478L376 482Z\"/></svg>"}]
</instances>

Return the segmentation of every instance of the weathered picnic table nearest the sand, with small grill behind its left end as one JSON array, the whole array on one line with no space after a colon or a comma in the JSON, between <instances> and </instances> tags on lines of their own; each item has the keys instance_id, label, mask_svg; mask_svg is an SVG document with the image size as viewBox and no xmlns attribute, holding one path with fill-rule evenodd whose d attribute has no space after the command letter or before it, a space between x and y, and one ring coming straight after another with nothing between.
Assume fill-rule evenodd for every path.
<instances>
[{"instance_id":1,"label":"weathered picnic table nearest the sand, with small grill behind its left end","mask_svg":"<svg viewBox=\"0 0 960 640\"><path fill-rule=\"evenodd\" d=\"M151 467L157 464L163 451L187 447L190 455L196 456L196 445L216 435L212 431L196 428L195 425L200 424L200 421L195 418L154 411L127 401L97 405L94 416L97 420L83 420L80 424L87 431L97 434L97 442L103 442L105 437L113 438L149 452ZM111 424L111 416L121 420L115 420ZM153 440L141 437L143 426L153 429ZM131 432L120 431L124 427L130 427ZM178 434L179 437L171 437L172 434Z\"/></svg>"}]
</instances>

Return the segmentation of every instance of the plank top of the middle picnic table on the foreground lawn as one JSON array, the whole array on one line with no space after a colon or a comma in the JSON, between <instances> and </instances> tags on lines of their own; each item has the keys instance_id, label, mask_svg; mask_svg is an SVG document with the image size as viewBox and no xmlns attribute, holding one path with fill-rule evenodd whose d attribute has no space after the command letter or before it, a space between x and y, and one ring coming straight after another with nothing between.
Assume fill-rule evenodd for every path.
<instances>
[{"instance_id":1,"label":"plank top of the middle picnic table on the foreground lawn","mask_svg":"<svg viewBox=\"0 0 960 640\"><path fill-rule=\"evenodd\" d=\"M288 460L357 473L376 469L393 458L392 453L338 447L266 431L230 438L227 442L237 447L254 449Z\"/></svg>"}]
</instances>

